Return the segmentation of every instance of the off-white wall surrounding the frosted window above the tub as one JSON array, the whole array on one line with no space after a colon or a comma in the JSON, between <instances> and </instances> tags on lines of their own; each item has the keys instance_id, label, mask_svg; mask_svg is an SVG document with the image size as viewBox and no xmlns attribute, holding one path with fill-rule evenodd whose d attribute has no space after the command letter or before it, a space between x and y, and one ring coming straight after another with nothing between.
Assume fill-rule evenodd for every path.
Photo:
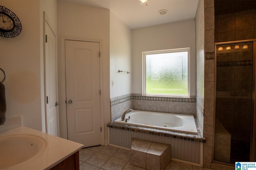
<instances>
[{"instance_id":1,"label":"off-white wall surrounding the frosted window above the tub","mask_svg":"<svg viewBox=\"0 0 256 170\"><path fill-rule=\"evenodd\" d=\"M196 96L195 21L132 30L132 92L142 94L142 52L190 47L190 96Z\"/></svg>"}]
</instances>

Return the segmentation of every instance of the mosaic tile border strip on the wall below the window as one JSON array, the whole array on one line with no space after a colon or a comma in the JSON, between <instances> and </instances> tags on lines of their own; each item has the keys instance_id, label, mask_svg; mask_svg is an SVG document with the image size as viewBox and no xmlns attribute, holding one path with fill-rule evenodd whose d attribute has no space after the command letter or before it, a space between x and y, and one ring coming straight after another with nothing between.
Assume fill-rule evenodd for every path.
<instances>
[{"instance_id":1,"label":"mosaic tile border strip on the wall below the window","mask_svg":"<svg viewBox=\"0 0 256 170\"><path fill-rule=\"evenodd\" d=\"M170 98L170 97L154 97L154 96L128 96L125 98L121 98L118 100L114 100L110 102L111 106L115 106L116 104L120 104L122 102L126 102L128 100L152 100L152 101L165 101L165 102L190 102L195 103L196 98Z\"/></svg>"}]
</instances>

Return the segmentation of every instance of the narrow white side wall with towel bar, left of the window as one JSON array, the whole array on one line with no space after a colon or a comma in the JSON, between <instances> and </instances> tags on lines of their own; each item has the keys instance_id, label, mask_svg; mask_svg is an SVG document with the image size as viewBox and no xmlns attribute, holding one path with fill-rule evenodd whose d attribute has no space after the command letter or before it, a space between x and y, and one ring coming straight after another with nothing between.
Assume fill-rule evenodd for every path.
<instances>
[{"instance_id":1,"label":"narrow white side wall with towel bar, left of the window","mask_svg":"<svg viewBox=\"0 0 256 170\"><path fill-rule=\"evenodd\" d=\"M110 12L110 98L132 93L132 30ZM114 86L112 86L114 81Z\"/></svg>"}]
</instances>

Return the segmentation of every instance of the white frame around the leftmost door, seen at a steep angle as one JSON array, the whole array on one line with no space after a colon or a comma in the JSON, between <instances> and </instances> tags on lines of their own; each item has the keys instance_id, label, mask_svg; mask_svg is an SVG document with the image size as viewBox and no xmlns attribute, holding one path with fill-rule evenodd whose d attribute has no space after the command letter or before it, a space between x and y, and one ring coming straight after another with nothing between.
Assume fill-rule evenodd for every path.
<instances>
[{"instance_id":1,"label":"white frame around the leftmost door, seen at a steep angle","mask_svg":"<svg viewBox=\"0 0 256 170\"><path fill-rule=\"evenodd\" d=\"M52 30L52 33L54 34L54 36L56 37L55 41L56 41L56 98L58 101L58 55L57 55L57 51L58 51L58 45L57 45L57 34L56 31L53 29L52 23L50 22L50 19L48 18L48 16L46 15L46 12L44 12L43 14L43 22L44 22L44 110L45 110L45 125L46 125L46 133L48 133L48 129L47 129L47 106L46 106L46 62L45 62L45 43L46 43L46 24L48 24L48 26L50 27L50 29ZM57 107L57 126L58 126L58 137L60 136L60 126L59 126L59 108Z\"/></svg>"}]
</instances>

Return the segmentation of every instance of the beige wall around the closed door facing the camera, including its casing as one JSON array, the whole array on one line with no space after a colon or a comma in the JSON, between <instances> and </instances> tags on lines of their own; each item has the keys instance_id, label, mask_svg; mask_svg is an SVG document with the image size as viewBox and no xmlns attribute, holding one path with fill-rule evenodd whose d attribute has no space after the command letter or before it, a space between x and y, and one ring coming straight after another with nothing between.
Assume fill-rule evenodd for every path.
<instances>
[{"instance_id":1,"label":"beige wall around the closed door facing the camera, including its casing","mask_svg":"<svg viewBox=\"0 0 256 170\"><path fill-rule=\"evenodd\" d=\"M110 121L110 10L82 4L58 1L58 85L60 137L67 138L65 54L64 39L100 42L101 105L104 114L105 143L108 139L106 124Z\"/></svg>"}]
</instances>

